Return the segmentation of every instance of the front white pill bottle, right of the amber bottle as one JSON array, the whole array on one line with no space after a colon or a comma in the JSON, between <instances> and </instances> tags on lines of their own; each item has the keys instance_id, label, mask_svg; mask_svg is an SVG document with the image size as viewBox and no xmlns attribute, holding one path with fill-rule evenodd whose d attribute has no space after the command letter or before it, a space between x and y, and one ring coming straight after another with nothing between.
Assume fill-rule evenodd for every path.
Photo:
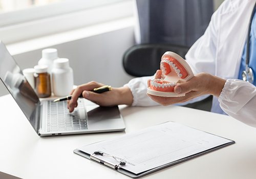
<instances>
[{"instance_id":1,"label":"front white pill bottle, right of the amber bottle","mask_svg":"<svg viewBox=\"0 0 256 179\"><path fill-rule=\"evenodd\" d=\"M68 96L73 89L73 70L68 58L58 58L53 61L52 84L55 96Z\"/></svg>"}]
</instances>

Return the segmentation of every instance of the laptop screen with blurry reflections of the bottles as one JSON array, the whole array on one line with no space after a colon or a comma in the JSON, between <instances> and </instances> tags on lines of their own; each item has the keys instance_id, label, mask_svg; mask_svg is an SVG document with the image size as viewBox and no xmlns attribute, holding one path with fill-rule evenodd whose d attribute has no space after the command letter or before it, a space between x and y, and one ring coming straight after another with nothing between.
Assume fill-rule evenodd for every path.
<instances>
[{"instance_id":1,"label":"laptop screen with blurry reflections of the bottles","mask_svg":"<svg viewBox=\"0 0 256 179\"><path fill-rule=\"evenodd\" d=\"M2 41L0 41L0 78L37 131L40 119L36 117L36 108L40 105L39 98Z\"/></svg>"}]
</instances>

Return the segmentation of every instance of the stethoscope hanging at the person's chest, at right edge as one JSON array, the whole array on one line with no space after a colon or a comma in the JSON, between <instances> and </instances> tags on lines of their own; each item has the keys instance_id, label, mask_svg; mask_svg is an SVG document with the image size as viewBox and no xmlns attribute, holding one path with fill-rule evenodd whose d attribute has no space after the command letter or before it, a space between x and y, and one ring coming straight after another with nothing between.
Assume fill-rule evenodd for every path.
<instances>
[{"instance_id":1,"label":"stethoscope hanging at the person's chest, at right edge","mask_svg":"<svg viewBox=\"0 0 256 179\"><path fill-rule=\"evenodd\" d=\"M254 16L254 9L256 7L256 3L253 7L253 11L251 13L251 18L250 18L250 26L248 29L248 34L247 34L247 49L246 49L246 61L245 61L245 71L242 72L242 78L244 81L248 81L250 83L253 83L254 81L254 75L252 69L248 66L249 64L249 42L250 42L250 31L251 31L251 23L252 19Z\"/></svg>"}]
</instances>

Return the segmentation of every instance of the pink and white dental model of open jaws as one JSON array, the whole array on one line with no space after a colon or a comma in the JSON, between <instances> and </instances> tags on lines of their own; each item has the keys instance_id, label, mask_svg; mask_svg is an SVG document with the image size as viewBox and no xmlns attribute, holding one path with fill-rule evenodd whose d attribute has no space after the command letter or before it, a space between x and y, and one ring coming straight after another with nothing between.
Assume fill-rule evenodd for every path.
<instances>
[{"instance_id":1,"label":"pink and white dental model of open jaws","mask_svg":"<svg viewBox=\"0 0 256 179\"><path fill-rule=\"evenodd\" d=\"M194 77L186 60L174 52L165 52L161 58L160 69L165 78L150 80L147 93L162 97L185 96L185 93L174 93L174 87L177 83L188 81Z\"/></svg>"}]
</instances>

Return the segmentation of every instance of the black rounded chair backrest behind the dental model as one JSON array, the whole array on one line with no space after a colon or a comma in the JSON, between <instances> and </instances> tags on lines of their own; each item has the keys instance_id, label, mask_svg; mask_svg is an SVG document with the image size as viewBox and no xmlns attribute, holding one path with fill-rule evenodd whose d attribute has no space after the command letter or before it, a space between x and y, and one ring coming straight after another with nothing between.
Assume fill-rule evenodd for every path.
<instances>
[{"instance_id":1,"label":"black rounded chair backrest behind the dental model","mask_svg":"<svg viewBox=\"0 0 256 179\"><path fill-rule=\"evenodd\" d=\"M135 77L152 76L160 69L162 55L172 51L185 58L188 47L172 44L138 44L123 55L123 68L129 75Z\"/></svg>"}]
</instances>

